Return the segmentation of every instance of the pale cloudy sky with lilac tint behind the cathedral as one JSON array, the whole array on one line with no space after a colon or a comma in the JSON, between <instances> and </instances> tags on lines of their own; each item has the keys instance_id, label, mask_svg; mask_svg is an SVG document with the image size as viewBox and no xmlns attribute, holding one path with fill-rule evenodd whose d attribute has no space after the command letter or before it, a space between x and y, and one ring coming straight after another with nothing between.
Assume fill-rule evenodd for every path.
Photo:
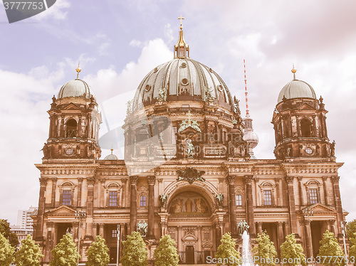
<instances>
[{"instance_id":1,"label":"pale cloudy sky with lilac tint behind the cathedral","mask_svg":"<svg viewBox=\"0 0 356 266\"><path fill-rule=\"evenodd\" d=\"M38 205L34 164L48 138L47 111L78 61L100 103L103 135L123 124L125 102L145 75L173 58L182 15L190 57L219 73L241 102L246 60L258 159L274 159L271 119L293 64L296 78L323 96L329 138L345 162L342 207L355 219L355 10L354 0L57 0L9 24L0 4L0 218L14 224L18 210Z\"/></svg>"}]
</instances>

